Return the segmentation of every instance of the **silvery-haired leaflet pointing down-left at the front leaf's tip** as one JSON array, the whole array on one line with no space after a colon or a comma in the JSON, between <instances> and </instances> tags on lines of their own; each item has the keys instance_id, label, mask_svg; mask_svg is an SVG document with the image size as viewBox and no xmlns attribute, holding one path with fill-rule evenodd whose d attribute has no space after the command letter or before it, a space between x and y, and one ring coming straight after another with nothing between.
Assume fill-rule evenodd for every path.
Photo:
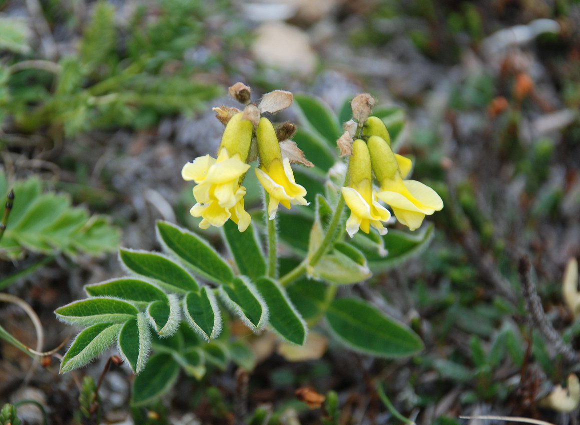
<instances>
[{"instance_id":1,"label":"silvery-haired leaflet pointing down-left at the front leaf's tip","mask_svg":"<svg viewBox=\"0 0 580 425\"><path fill-rule=\"evenodd\" d=\"M103 353L117 339L121 326L100 323L79 333L60 362L60 373L78 369Z\"/></svg>"}]
</instances>

